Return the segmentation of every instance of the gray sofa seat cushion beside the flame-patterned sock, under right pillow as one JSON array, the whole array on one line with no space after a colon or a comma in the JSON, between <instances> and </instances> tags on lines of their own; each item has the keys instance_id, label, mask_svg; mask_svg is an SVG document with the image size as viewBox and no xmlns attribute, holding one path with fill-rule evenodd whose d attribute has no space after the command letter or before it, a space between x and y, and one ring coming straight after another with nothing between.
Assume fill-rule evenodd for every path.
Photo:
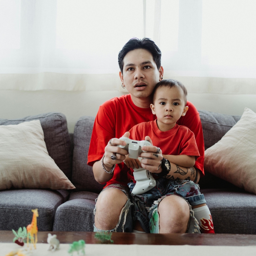
<instances>
[{"instance_id":1,"label":"gray sofa seat cushion beside the flame-patterned sock, under right pillow","mask_svg":"<svg viewBox=\"0 0 256 256\"><path fill-rule=\"evenodd\" d=\"M256 195L226 189L201 189L215 233L256 234Z\"/></svg>"}]
</instances>

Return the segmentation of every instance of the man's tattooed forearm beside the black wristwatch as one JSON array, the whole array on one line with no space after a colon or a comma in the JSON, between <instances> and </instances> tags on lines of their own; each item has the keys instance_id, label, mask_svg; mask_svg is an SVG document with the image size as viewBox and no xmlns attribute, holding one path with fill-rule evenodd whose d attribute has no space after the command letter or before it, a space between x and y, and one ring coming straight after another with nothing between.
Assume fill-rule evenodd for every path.
<instances>
[{"instance_id":1,"label":"man's tattooed forearm beside the black wristwatch","mask_svg":"<svg viewBox=\"0 0 256 256\"><path fill-rule=\"evenodd\" d=\"M200 170L195 167L181 167L179 165L170 163L171 170L170 172L164 176L169 180L192 180L195 183L198 183L200 178Z\"/></svg>"}]
</instances>

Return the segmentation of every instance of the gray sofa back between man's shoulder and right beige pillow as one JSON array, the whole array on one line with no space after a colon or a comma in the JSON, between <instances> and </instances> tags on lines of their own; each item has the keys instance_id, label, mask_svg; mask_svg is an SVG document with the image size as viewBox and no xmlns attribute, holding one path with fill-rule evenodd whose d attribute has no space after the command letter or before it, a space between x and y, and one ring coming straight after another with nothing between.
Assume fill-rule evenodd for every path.
<instances>
[{"instance_id":1,"label":"gray sofa back between man's shoulder and right beige pillow","mask_svg":"<svg viewBox=\"0 0 256 256\"><path fill-rule=\"evenodd\" d=\"M204 149L218 142L233 127L241 116L224 115L198 110L204 134Z\"/></svg>"}]
</instances>

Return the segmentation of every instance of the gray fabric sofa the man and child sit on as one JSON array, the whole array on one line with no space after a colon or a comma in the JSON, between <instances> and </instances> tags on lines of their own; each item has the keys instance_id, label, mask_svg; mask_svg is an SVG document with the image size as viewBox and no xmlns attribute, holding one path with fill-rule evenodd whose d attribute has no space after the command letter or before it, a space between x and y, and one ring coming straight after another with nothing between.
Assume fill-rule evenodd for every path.
<instances>
[{"instance_id":1,"label":"gray fabric sofa the man and child sit on","mask_svg":"<svg viewBox=\"0 0 256 256\"><path fill-rule=\"evenodd\" d=\"M240 119L199 111L205 149L214 145ZM48 113L17 120L0 119L0 125L39 119L49 155L76 186L74 191L10 189L0 191L0 230L17 230L31 222L31 209L38 208L39 231L93 231L95 198L102 190L87 165L94 117L81 117L74 134L68 134L63 114ZM101 136L101 135L99 135ZM73 159L73 162L72 162ZM256 195L249 194L210 173L200 178L216 233L256 234Z\"/></svg>"}]
</instances>

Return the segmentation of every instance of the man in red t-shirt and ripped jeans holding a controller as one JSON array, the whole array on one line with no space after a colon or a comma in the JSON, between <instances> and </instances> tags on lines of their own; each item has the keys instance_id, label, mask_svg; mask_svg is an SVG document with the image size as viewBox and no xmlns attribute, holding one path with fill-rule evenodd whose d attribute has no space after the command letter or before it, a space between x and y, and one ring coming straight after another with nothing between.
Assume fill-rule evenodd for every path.
<instances>
[{"instance_id":1,"label":"man in red t-shirt and ripped jeans holding a controller","mask_svg":"<svg viewBox=\"0 0 256 256\"><path fill-rule=\"evenodd\" d=\"M107 183L97 199L95 231L132 232L135 229L149 232L149 220L138 211L132 212L133 202L130 201L127 187L130 182L127 178L128 168L123 163L128 152L116 145L125 145L118 138L129 137L127 131L134 125L156 119L150 104L155 85L163 79L161 51L148 38L131 39L120 51L118 62L122 86L130 94L111 99L100 106L88 153L88 164L93 167L95 180L101 184ZM187 126L195 134L200 153L195 166L188 169L170 163L169 170L165 170L161 149L157 145L142 148L148 152L140 156L147 158L141 160L142 167L152 173L167 171L170 179L180 180L184 179L185 173L186 178L197 183L200 171L203 174L204 142L199 114L190 102L188 106L189 115L181 117L177 123ZM148 136L145 139L151 141ZM158 213L160 233L189 231L188 223L192 223L192 214L189 204L183 198L176 195L163 198Z\"/></svg>"}]
</instances>

